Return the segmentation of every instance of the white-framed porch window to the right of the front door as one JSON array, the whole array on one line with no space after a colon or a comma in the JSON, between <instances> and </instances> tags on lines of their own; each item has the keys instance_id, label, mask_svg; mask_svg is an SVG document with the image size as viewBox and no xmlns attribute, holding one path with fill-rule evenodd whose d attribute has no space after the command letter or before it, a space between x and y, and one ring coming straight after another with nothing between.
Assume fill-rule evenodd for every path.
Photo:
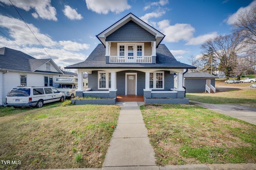
<instances>
[{"instance_id":1,"label":"white-framed porch window to the right of the front door","mask_svg":"<svg viewBox=\"0 0 256 170\"><path fill-rule=\"evenodd\" d=\"M164 89L164 72L157 71L149 74L149 88Z\"/></svg>"}]
</instances>

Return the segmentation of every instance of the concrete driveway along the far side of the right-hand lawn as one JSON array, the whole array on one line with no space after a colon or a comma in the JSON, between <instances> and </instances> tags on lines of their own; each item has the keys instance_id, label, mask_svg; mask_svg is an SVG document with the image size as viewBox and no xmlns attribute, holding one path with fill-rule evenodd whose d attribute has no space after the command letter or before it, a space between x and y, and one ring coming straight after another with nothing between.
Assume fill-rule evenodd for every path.
<instances>
[{"instance_id":1,"label":"concrete driveway along the far side of the right-hand lawn","mask_svg":"<svg viewBox=\"0 0 256 170\"><path fill-rule=\"evenodd\" d=\"M256 125L256 108L254 107L241 106L238 104L205 104L194 101L189 102Z\"/></svg>"}]
</instances>

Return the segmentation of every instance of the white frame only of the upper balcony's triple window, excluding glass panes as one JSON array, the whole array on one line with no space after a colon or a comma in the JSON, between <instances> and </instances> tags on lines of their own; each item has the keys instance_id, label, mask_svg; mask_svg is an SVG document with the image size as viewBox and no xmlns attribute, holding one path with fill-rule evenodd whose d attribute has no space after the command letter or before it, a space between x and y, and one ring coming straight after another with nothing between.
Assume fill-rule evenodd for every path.
<instances>
[{"instance_id":1,"label":"white frame only of the upper balcony's triple window, excluding glass panes","mask_svg":"<svg viewBox=\"0 0 256 170\"><path fill-rule=\"evenodd\" d=\"M120 56L120 45L124 46L124 56ZM118 57L137 57L137 45L141 45L142 46L142 56L138 56L138 57L144 57L144 43L117 43L117 50L118 50ZM133 46L133 56L128 56L128 46Z\"/></svg>"}]
</instances>

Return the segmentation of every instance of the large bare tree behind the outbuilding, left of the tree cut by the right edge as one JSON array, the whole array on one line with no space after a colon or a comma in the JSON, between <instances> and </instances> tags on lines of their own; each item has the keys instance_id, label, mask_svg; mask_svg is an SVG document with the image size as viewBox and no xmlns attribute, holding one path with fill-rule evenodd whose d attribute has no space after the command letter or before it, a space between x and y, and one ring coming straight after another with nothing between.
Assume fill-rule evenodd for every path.
<instances>
[{"instance_id":1,"label":"large bare tree behind the outbuilding, left of the tree cut by the right edge","mask_svg":"<svg viewBox=\"0 0 256 170\"><path fill-rule=\"evenodd\" d=\"M201 49L205 55L211 53L219 65L219 70L225 72L228 79L232 69L237 64L237 54L244 48L241 42L241 37L235 32L230 35L219 35L214 39L208 39L202 44Z\"/></svg>"}]
</instances>

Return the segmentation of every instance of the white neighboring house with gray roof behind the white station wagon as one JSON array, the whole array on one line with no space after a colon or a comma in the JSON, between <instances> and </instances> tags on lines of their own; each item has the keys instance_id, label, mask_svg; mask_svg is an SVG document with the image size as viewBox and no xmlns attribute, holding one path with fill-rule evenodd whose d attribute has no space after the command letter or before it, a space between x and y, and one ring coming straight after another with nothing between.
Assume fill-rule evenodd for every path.
<instances>
[{"instance_id":1,"label":"white neighboring house with gray roof behind the white station wagon","mask_svg":"<svg viewBox=\"0 0 256 170\"><path fill-rule=\"evenodd\" d=\"M56 86L53 80L59 76L65 76L64 72L52 59L35 59L21 51L0 48L0 106L11 88Z\"/></svg>"}]
</instances>

